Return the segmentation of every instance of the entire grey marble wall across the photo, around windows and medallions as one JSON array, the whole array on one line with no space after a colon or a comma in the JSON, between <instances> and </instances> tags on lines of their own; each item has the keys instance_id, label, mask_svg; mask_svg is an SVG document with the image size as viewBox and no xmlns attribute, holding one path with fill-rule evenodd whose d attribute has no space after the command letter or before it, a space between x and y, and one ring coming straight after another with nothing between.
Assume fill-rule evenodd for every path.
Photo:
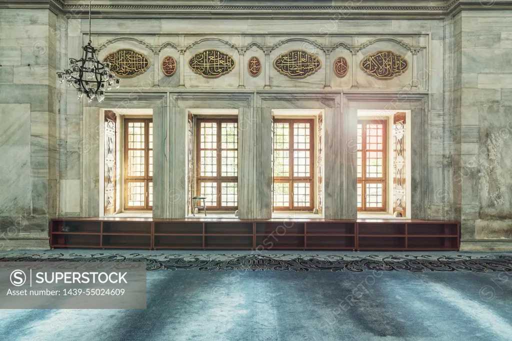
<instances>
[{"instance_id":1,"label":"entire grey marble wall across the photo, around windows and medallions","mask_svg":"<svg viewBox=\"0 0 512 341\"><path fill-rule=\"evenodd\" d=\"M50 217L99 214L100 109L153 109L160 126L155 130L155 174L160 177L155 176L154 216L184 217L186 199L179 193L186 184L186 110L215 107L237 109L239 119L251 124L241 134L243 153L250 155L240 163L242 218L270 214L266 132L272 109L325 111L325 215L352 219L355 164L347 143L354 137L357 109L411 110L418 124L412 146L414 218L461 221L462 239L468 243L512 239L512 13L463 10L431 18L337 15L279 20L123 19L96 13L91 40L100 58L130 48L151 62L143 74L122 79L121 89L101 105L78 100L73 89L56 83L55 70L67 67L68 58L79 57L80 47L89 40L89 20L65 14L26 9L0 13L0 116L13 126L19 124L12 138L30 146L29 156L2 169L14 167L25 176L30 169L30 183L18 184L29 186L31 193L30 198L14 193L0 198L23 206L40 238ZM228 53L235 68L212 79L192 72L188 59L204 49ZM322 68L303 79L280 74L272 62L291 49L315 54ZM390 80L367 75L359 63L378 50L403 55L408 70ZM160 68L167 55L177 60L172 77ZM247 72L251 56L262 62L258 77ZM339 56L349 63L343 78L332 73ZM30 116L30 127L9 120L12 109L2 106L6 104L20 105L15 110ZM11 155L14 150L4 146L0 151ZM30 160L28 168L23 160ZM12 221L6 219L4 231Z\"/></svg>"}]
</instances>

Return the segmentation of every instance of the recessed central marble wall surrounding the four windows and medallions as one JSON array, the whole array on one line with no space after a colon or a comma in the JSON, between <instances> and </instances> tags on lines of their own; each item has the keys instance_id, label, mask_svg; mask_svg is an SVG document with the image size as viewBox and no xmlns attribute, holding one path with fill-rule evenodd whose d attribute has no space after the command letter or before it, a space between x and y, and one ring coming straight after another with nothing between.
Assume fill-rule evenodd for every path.
<instances>
[{"instance_id":1,"label":"recessed central marble wall surrounding the four windows and medallions","mask_svg":"<svg viewBox=\"0 0 512 341\"><path fill-rule=\"evenodd\" d=\"M368 22L344 19L330 25L331 21L321 20L299 20L298 23L297 20L283 19L276 23L276 20L268 19L229 19L225 24L236 28L230 33L216 26L216 20L156 19L147 26L144 22L147 20L137 19L132 20L133 25L126 25L122 19L93 19L95 32L101 34L93 33L92 41L100 49L100 58L127 48L142 53L150 60L146 72L134 78L123 78L120 92L110 98L109 104L103 103L102 108L138 108L141 101L148 100L147 97L157 93L168 95L167 112L164 110L162 117L155 118L163 129L155 131L155 139L163 143L160 146L163 148L161 153L155 153L155 217L185 216L184 184L187 182L183 134L187 110L238 109L239 119L247 120L250 129L241 132L241 147L245 157L240 163L240 217L258 219L267 219L271 215L271 146L268 134L273 109L319 109L325 112L325 153L329 157L324 159L324 212L326 218L333 219L356 218L355 159L351 157L347 145L350 144L350 138L355 137L352 135L355 132L357 111L349 113L347 109L344 112L343 103L348 100L349 94L366 93L362 98L376 103L368 103L368 108L362 104L360 109L410 110L414 106L411 106L412 97L430 98L419 101L421 108L413 108L424 113L418 114L415 119L426 129L430 127L429 120L432 117L433 134L439 134L438 126L445 124L442 20L382 19ZM78 23L78 19L68 20L70 27L76 28ZM87 20L81 20L82 33L87 26ZM268 27L273 28L272 32L268 31ZM326 28L329 30L326 31ZM79 45L86 42L86 37L80 37L78 33L78 30L72 30L68 35L68 47L73 47L75 53L79 52ZM216 49L231 55L235 60L234 69L219 78L204 78L194 73L187 65L188 59L205 49ZM292 49L315 54L321 60L322 68L303 79L291 79L280 74L273 67L273 61ZM359 67L361 60L379 50L391 50L404 56L409 62L407 71L389 80L379 80L366 74ZM71 55L71 51L68 48L67 54ZM164 76L160 69L161 61L167 55L173 56L178 64L178 70L172 77ZM251 77L247 71L247 61L251 56L257 56L262 62L263 70L258 77ZM349 72L343 78L336 77L332 72L333 62L340 56L345 57L349 63ZM383 93L387 95L383 96ZM241 103L241 98L247 99ZM71 118L71 126L76 122L76 115L81 112L84 115L90 113L89 109L86 111L79 108L80 103L70 96L67 105L66 112ZM97 122L99 118L95 116L96 109L94 113L92 119L82 118L82 126ZM94 130L94 127L89 127L85 131L82 129L82 133L87 134L89 131L91 135ZM92 135L100 138L98 133ZM442 131L440 136L441 141L436 140L434 143L440 143L438 153L443 157ZM91 140L87 136L84 138ZM95 139L92 139L93 145ZM424 162L417 168L413 181L415 185L418 184L418 188L422 184L421 188L424 189L417 191L418 197L423 199L415 203L419 209L414 212L414 217L450 219L450 203L445 205L449 208L443 210L443 204L437 203L435 196L426 190L426 179L431 175L442 175L446 168L451 167L451 163L430 164L430 142L426 135L421 141L422 146L417 147L417 152ZM69 143L68 148L72 150ZM97 147L92 149L95 151ZM94 172L95 152L92 155L92 168L89 161L83 161L91 157L81 155L81 173L87 174L82 175L81 210L61 210L62 215L97 215L95 205L88 204L99 195L96 184L99 181L98 172ZM67 164L70 165L69 162ZM442 176L439 181L444 185ZM61 198L67 194L61 190Z\"/></svg>"}]
</instances>

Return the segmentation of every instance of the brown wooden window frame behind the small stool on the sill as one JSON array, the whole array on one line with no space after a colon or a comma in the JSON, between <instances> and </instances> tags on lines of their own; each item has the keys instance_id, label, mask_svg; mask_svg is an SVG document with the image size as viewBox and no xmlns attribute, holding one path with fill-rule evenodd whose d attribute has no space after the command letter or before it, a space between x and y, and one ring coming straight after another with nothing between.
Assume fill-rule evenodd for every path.
<instances>
[{"instance_id":1,"label":"brown wooden window frame behind the small stool on the sill","mask_svg":"<svg viewBox=\"0 0 512 341\"><path fill-rule=\"evenodd\" d=\"M201 151L210 150L211 148L201 148L201 123L217 123L217 176L207 177L201 176ZM223 177L222 176L222 151L233 151L231 148L222 148L222 123L237 123L238 128L238 117L198 117L196 119L196 196L201 196L201 182L215 182L217 183L217 200L216 206L206 206L208 210L214 211L235 211L238 209L239 202L239 187L238 187L238 174L239 174L239 131L237 129L237 176L236 177ZM237 206L222 206L222 183L223 182L236 182L237 183ZM201 202L202 204L202 202Z\"/></svg>"}]
</instances>

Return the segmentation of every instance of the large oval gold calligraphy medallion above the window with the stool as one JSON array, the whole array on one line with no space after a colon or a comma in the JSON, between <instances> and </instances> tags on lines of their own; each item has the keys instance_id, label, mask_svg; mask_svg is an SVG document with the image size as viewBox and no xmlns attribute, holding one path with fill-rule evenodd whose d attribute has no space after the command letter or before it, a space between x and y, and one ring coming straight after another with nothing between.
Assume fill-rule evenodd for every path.
<instances>
[{"instance_id":1,"label":"large oval gold calligraphy medallion above the window with the stool","mask_svg":"<svg viewBox=\"0 0 512 341\"><path fill-rule=\"evenodd\" d=\"M234 69L234 59L218 50L204 50L188 60L192 71L206 78L217 78Z\"/></svg>"}]
</instances>

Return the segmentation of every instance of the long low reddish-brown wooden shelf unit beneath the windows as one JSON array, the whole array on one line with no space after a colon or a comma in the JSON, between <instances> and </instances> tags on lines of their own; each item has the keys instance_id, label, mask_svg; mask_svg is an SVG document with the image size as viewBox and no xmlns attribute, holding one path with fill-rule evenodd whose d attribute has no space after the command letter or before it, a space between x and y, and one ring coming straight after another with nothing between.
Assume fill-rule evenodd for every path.
<instances>
[{"instance_id":1,"label":"long low reddish-brown wooden shelf unit beneath the windows","mask_svg":"<svg viewBox=\"0 0 512 341\"><path fill-rule=\"evenodd\" d=\"M434 220L69 218L50 247L140 249L459 250L459 223Z\"/></svg>"}]
</instances>

